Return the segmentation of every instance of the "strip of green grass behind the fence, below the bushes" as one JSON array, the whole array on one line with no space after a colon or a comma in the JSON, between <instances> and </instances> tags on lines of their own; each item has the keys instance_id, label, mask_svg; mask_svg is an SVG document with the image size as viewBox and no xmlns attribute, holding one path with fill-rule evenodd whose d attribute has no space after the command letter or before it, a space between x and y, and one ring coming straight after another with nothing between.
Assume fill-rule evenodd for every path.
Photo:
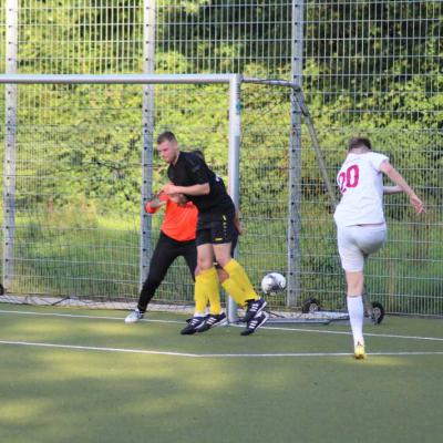
<instances>
[{"instance_id":1,"label":"strip of green grass behind the fence, below the bushes","mask_svg":"<svg viewBox=\"0 0 443 443\"><path fill-rule=\"evenodd\" d=\"M154 247L162 217L152 220ZM41 220L18 220L13 291L135 301L140 272L138 218L96 217L84 226L80 222L69 224L68 218L62 222L47 226ZM392 223L387 245L368 262L370 298L382 302L388 311L443 313L442 231L437 224L423 229L425 238L413 225ZM246 220L246 230L239 241L239 260L259 290L266 272L286 274L286 220ZM306 222L300 250L298 306L315 297L324 309L341 309L344 280L332 222L320 216ZM182 258L169 269L157 299L192 302L193 281ZM286 308L285 293L268 301L272 309Z\"/></svg>"}]
</instances>

